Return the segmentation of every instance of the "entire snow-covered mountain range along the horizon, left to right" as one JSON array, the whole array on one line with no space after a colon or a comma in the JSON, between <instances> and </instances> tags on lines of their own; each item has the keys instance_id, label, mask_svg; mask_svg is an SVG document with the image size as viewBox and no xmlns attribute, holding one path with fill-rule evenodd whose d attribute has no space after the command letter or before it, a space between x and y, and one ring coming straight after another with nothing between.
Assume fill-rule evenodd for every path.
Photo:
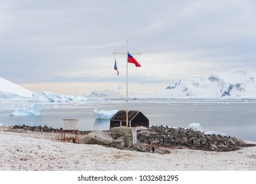
<instances>
[{"instance_id":1,"label":"entire snow-covered mountain range along the horizon, left to right","mask_svg":"<svg viewBox=\"0 0 256 184\"><path fill-rule=\"evenodd\" d=\"M124 91L118 89L93 91L88 97L59 95L43 91L35 94L11 81L0 78L0 99L22 99L29 101L67 102L95 99L124 99ZM180 80L166 89L151 95L133 95L130 99L256 99L256 74L245 70L211 72L208 76Z\"/></svg>"}]
</instances>

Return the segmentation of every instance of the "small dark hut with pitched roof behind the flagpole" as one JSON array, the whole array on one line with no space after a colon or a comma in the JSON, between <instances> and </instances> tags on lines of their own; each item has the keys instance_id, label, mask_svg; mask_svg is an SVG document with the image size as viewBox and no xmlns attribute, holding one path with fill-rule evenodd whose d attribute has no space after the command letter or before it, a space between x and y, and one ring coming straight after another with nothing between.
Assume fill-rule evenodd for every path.
<instances>
[{"instance_id":1,"label":"small dark hut with pitched roof behind the flagpole","mask_svg":"<svg viewBox=\"0 0 256 184\"><path fill-rule=\"evenodd\" d=\"M110 119L110 127L126 126L126 110L119 110ZM138 110L128 111L128 127L149 127L149 119Z\"/></svg>"}]
</instances>

